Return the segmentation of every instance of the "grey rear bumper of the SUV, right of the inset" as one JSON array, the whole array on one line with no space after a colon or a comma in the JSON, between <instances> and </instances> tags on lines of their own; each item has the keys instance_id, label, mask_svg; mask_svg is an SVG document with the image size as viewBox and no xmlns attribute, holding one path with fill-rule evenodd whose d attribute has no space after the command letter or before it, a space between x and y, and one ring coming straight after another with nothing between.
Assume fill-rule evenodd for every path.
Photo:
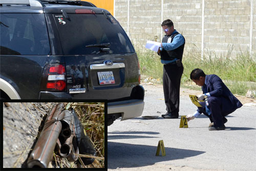
<instances>
[{"instance_id":1,"label":"grey rear bumper of the SUV, right of the inset","mask_svg":"<svg viewBox=\"0 0 256 171\"><path fill-rule=\"evenodd\" d=\"M144 108L143 100L124 100L108 103L108 115L120 113L121 120L131 119L142 115Z\"/></svg>"}]
</instances>

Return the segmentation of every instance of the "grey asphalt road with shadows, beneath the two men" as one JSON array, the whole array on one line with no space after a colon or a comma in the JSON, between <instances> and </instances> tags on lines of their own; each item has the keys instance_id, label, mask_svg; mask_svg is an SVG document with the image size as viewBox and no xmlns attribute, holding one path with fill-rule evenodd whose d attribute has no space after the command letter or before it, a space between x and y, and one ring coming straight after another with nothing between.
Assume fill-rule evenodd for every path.
<instances>
[{"instance_id":1,"label":"grey asphalt road with shadows, beneath the two men","mask_svg":"<svg viewBox=\"0 0 256 171\"><path fill-rule=\"evenodd\" d=\"M208 131L209 119L201 115L179 128L179 119L165 114L161 86L144 86L142 117L108 126L108 170L256 170L256 106L242 106L227 116L224 131ZM180 116L197 109L186 89L181 90ZM166 156L156 156L163 140ZM160 153L161 154L161 153Z\"/></svg>"}]
</instances>

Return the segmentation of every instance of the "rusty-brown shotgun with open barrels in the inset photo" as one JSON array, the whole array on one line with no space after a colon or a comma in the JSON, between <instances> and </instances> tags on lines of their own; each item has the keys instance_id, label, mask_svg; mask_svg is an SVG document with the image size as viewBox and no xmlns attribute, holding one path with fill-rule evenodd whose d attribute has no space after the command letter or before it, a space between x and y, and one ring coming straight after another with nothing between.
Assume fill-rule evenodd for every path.
<instances>
[{"instance_id":1,"label":"rusty-brown shotgun with open barrels in the inset photo","mask_svg":"<svg viewBox=\"0 0 256 171\"><path fill-rule=\"evenodd\" d=\"M53 106L47 116L44 128L28 158L29 168L46 168L52 160L53 152L68 161L78 161L79 154L96 156L90 138L84 134L82 124L74 110L65 110L63 103ZM94 158L81 157L84 164L94 162Z\"/></svg>"}]
</instances>

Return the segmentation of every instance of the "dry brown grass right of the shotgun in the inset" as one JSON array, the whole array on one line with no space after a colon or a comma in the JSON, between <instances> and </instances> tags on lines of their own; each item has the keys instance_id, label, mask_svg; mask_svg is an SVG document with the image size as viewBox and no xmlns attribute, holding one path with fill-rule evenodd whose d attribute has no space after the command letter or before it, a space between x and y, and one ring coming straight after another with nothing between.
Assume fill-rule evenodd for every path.
<instances>
[{"instance_id":1,"label":"dry brown grass right of the shotgun in the inset","mask_svg":"<svg viewBox=\"0 0 256 171\"><path fill-rule=\"evenodd\" d=\"M79 154L79 158L95 158L95 161L90 165L83 165L83 163L80 165L78 163L68 162L67 158L60 158L57 155L54 155L52 163L56 163L56 165L61 168L104 168L104 103L72 102L65 104L67 109L73 108L75 110L83 125L84 131L86 131L86 134L94 144L97 155L96 157L91 157L89 155Z\"/></svg>"}]
</instances>

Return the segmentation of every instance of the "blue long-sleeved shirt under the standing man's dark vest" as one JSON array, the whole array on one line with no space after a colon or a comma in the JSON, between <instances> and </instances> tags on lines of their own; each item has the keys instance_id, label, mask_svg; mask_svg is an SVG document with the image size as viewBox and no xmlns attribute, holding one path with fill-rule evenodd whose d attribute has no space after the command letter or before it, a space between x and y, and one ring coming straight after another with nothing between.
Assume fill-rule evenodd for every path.
<instances>
[{"instance_id":1,"label":"blue long-sleeved shirt under the standing man's dark vest","mask_svg":"<svg viewBox=\"0 0 256 171\"><path fill-rule=\"evenodd\" d=\"M176 30L171 34L178 33ZM174 50L179 48L181 45L183 45L185 42L184 37L181 34L178 34L174 37L173 42L171 43L162 43L163 49L166 51ZM174 60L161 60L161 63L166 64L177 60L176 58Z\"/></svg>"}]
</instances>

